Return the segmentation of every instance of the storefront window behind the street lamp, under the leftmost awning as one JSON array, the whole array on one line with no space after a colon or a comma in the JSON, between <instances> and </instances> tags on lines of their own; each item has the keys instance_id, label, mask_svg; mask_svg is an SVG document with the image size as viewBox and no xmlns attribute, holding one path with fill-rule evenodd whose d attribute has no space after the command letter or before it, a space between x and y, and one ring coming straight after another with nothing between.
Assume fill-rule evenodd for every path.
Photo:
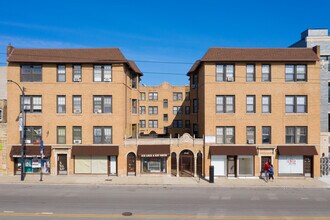
<instances>
[{"instance_id":1,"label":"storefront window behind the street lamp, under the leftmost awning","mask_svg":"<svg viewBox=\"0 0 330 220\"><path fill-rule=\"evenodd\" d=\"M49 158L34 157L34 158L25 158L25 173L40 173L42 169L43 173L50 172L50 163ZM21 174L22 164L21 158L15 158L16 165L16 174Z\"/></svg>"}]
</instances>

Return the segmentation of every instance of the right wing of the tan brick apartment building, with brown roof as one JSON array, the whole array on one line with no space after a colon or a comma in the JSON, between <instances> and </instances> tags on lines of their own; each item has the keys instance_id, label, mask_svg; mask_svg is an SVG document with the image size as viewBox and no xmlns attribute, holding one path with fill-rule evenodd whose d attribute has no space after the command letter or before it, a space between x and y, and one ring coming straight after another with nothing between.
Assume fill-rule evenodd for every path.
<instances>
[{"instance_id":1,"label":"right wing of the tan brick apartment building, with brown roof","mask_svg":"<svg viewBox=\"0 0 330 220\"><path fill-rule=\"evenodd\" d=\"M188 72L216 176L320 176L319 47L210 48ZM208 169L205 176L209 175Z\"/></svg>"}]
</instances>

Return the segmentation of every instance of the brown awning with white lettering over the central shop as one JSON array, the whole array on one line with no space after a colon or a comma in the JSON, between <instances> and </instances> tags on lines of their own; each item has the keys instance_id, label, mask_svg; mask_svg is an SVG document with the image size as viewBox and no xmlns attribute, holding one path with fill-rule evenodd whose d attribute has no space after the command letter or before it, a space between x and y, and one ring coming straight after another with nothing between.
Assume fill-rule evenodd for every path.
<instances>
[{"instance_id":1,"label":"brown awning with white lettering over the central shop","mask_svg":"<svg viewBox=\"0 0 330 220\"><path fill-rule=\"evenodd\" d=\"M168 157L170 145L138 145L137 154L140 157Z\"/></svg>"}]
</instances>

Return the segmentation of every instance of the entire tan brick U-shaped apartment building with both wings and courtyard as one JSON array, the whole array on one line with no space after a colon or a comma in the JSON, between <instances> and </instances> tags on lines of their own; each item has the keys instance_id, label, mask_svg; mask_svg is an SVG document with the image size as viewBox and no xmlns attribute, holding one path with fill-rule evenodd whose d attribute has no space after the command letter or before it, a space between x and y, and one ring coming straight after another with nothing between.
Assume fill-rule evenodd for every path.
<instances>
[{"instance_id":1,"label":"entire tan brick U-shaped apartment building with both wings and courtyard","mask_svg":"<svg viewBox=\"0 0 330 220\"><path fill-rule=\"evenodd\" d=\"M119 49L8 47L7 173L208 178L320 174L319 49L211 48L189 86L140 85ZM39 141L44 141L41 160Z\"/></svg>"}]
</instances>

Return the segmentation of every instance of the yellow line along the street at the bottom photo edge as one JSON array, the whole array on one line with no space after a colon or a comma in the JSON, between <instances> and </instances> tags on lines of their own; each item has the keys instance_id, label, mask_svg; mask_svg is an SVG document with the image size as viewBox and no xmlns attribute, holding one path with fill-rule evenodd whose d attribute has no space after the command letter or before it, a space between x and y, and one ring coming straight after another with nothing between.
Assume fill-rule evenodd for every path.
<instances>
[{"instance_id":1,"label":"yellow line along the street at the bottom photo edge","mask_svg":"<svg viewBox=\"0 0 330 220\"><path fill-rule=\"evenodd\" d=\"M198 215L131 215L123 216L121 214L64 214L64 213L28 213L28 212L0 212L0 216L7 217L62 217L62 218L122 218L122 219L244 219L244 220L329 220L330 216L198 216Z\"/></svg>"}]
</instances>

